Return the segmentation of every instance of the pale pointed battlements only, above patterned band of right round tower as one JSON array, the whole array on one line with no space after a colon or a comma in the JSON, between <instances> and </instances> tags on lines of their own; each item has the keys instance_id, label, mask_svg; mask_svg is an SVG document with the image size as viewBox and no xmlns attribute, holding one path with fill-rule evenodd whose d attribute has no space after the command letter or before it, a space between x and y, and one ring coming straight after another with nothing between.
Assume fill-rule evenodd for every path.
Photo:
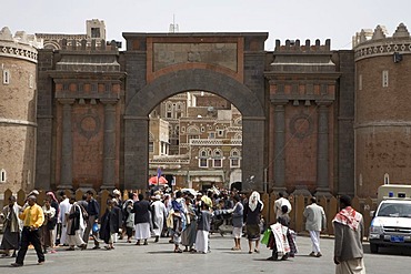
<instances>
[{"instance_id":1,"label":"pale pointed battlements only, above patterned band of right round tower","mask_svg":"<svg viewBox=\"0 0 411 274\"><path fill-rule=\"evenodd\" d=\"M357 48L364 43L372 43L379 40L398 40L398 39L410 39L410 32L405 24L400 23L397 27L395 32L392 37L388 37L388 31L384 26L377 26L374 30L362 29L352 37L352 48Z\"/></svg>"}]
</instances>

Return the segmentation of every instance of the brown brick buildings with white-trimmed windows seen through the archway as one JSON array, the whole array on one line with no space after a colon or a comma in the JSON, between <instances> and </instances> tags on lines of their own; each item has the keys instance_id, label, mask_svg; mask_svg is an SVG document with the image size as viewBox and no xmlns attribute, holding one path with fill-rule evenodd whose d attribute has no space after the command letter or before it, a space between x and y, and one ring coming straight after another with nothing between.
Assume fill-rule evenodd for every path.
<instances>
[{"instance_id":1,"label":"brown brick buildings with white-trimmed windows seen through the archway","mask_svg":"<svg viewBox=\"0 0 411 274\"><path fill-rule=\"evenodd\" d=\"M149 169L178 187L229 187L241 181L241 113L204 91L176 94L150 113Z\"/></svg>"}]
</instances>

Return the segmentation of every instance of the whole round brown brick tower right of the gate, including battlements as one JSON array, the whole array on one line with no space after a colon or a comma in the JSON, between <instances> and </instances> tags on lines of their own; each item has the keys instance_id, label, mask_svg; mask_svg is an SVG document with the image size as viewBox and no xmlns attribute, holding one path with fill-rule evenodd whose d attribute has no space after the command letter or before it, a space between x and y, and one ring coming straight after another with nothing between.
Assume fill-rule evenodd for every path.
<instances>
[{"instance_id":1,"label":"whole round brown brick tower right of the gate, including battlements","mask_svg":"<svg viewBox=\"0 0 411 274\"><path fill-rule=\"evenodd\" d=\"M355 54L355 187L377 195L383 183L411 179L411 38L400 23L353 39Z\"/></svg>"}]
</instances>

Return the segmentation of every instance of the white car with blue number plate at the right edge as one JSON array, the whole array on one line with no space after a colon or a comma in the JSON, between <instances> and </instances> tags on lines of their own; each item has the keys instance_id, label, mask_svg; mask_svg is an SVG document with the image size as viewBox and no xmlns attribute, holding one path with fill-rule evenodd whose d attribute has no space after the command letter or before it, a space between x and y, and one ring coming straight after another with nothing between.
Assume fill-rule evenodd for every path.
<instances>
[{"instance_id":1,"label":"white car with blue number plate at the right edge","mask_svg":"<svg viewBox=\"0 0 411 274\"><path fill-rule=\"evenodd\" d=\"M380 246L411 246L411 200L383 200L370 226L371 253Z\"/></svg>"}]
</instances>

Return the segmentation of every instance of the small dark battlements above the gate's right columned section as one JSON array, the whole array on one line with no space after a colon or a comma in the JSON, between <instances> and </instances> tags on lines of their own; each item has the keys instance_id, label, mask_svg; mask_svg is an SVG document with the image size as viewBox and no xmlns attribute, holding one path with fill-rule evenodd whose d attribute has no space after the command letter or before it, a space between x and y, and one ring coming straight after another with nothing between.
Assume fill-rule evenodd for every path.
<instances>
[{"instance_id":1,"label":"small dark battlements above the gate's right columned section","mask_svg":"<svg viewBox=\"0 0 411 274\"><path fill-rule=\"evenodd\" d=\"M307 53L307 52L330 52L331 40L327 39L325 44L321 44L320 39L315 40L314 44L311 44L311 40L307 39L305 44L301 44L300 40L285 40L285 44L281 44L280 40L275 40L274 52L284 53Z\"/></svg>"}]
</instances>

